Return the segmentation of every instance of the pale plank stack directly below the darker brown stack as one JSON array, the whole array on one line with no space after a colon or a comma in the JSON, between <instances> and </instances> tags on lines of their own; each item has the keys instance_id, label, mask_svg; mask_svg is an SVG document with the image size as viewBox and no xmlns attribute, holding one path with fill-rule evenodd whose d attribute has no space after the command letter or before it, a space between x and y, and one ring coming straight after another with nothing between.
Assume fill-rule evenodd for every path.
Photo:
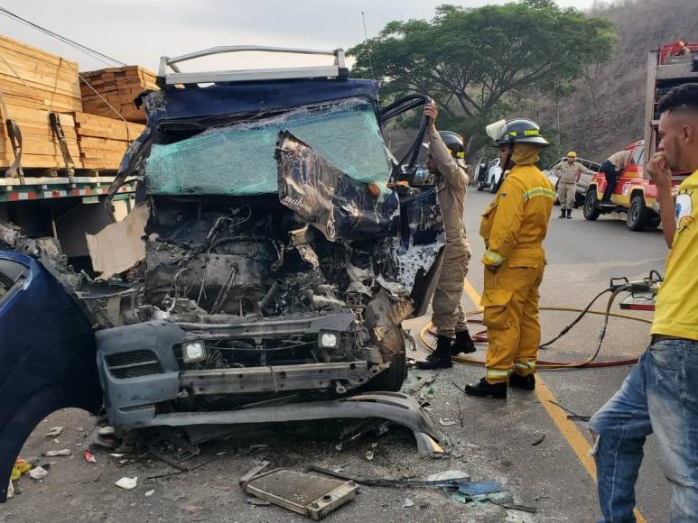
<instances>
[{"instance_id":1,"label":"pale plank stack directly below the darker brown stack","mask_svg":"<svg viewBox=\"0 0 698 523\"><path fill-rule=\"evenodd\" d=\"M127 124L116 118L75 112L79 161L85 169L117 169L128 144L143 133L144 125Z\"/></svg>"}]
</instances>

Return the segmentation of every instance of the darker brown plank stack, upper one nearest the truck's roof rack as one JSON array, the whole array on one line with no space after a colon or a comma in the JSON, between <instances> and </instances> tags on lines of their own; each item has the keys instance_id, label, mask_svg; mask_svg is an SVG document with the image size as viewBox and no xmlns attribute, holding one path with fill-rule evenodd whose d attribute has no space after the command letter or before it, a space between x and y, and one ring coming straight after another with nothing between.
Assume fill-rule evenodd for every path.
<instances>
[{"instance_id":1,"label":"darker brown plank stack, upper one nearest the truck's roof rack","mask_svg":"<svg viewBox=\"0 0 698 523\"><path fill-rule=\"evenodd\" d=\"M144 110L135 107L134 98L145 89L158 88L155 85L153 72L140 66L128 66L100 69L81 74L89 86L92 86L90 88L84 82L81 85L82 104L86 113L114 118L116 115L110 107L111 105L127 121L138 124L145 123Z\"/></svg>"}]
</instances>

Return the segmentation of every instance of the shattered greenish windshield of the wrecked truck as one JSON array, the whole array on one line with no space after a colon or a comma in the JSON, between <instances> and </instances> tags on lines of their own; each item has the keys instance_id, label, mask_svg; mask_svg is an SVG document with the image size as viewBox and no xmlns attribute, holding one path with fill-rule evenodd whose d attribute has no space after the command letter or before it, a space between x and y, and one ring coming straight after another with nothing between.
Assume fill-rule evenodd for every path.
<instances>
[{"instance_id":1,"label":"shattered greenish windshield of the wrecked truck","mask_svg":"<svg viewBox=\"0 0 698 523\"><path fill-rule=\"evenodd\" d=\"M362 98L305 106L255 122L154 144L145 167L151 194L252 196L278 190L275 144L291 131L337 169L385 187L391 162L374 107Z\"/></svg>"}]
</instances>

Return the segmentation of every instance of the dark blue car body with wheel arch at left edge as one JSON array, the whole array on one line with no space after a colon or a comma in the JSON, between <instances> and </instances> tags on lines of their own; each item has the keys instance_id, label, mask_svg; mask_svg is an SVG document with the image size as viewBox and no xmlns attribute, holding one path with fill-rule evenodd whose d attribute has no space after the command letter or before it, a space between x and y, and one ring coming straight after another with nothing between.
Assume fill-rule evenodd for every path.
<instances>
[{"instance_id":1,"label":"dark blue car body with wheel arch at left edge","mask_svg":"<svg viewBox=\"0 0 698 523\"><path fill-rule=\"evenodd\" d=\"M95 334L79 304L33 257L0 252L0 501L14 459L59 408L102 406Z\"/></svg>"}]
</instances>

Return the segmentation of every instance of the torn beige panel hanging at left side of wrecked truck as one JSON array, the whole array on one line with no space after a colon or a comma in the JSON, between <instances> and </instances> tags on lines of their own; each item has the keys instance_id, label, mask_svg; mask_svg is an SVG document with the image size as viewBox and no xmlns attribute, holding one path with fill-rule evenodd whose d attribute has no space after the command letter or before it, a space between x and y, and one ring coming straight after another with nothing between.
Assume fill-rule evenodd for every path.
<instances>
[{"instance_id":1,"label":"torn beige panel hanging at left side of wrecked truck","mask_svg":"<svg viewBox=\"0 0 698 523\"><path fill-rule=\"evenodd\" d=\"M149 207L140 204L122 221L107 225L98 234L85 234L92 268L100 273L100 280L108 280L144 261L143 236L149 214Z\"/></svg>"}]
</instances>

